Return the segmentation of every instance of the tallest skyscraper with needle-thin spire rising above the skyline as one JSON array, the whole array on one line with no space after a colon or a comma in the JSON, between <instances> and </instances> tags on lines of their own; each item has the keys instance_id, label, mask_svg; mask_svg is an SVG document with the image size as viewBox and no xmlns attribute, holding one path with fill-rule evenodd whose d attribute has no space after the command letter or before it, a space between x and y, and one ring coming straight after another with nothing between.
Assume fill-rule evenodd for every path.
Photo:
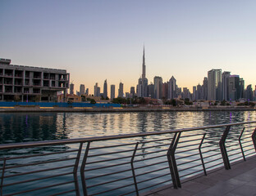
<instances>
[{"instance_id":1,"label":"tallest skyscraper with needle-thin spire rising above the skyline","mask_svg":"<svg viewBox=\"0 0 256 196\"><path fill-rule=\"evenodd\" d=\"M146 78L145 50L143 50L142 76L138 81L138 97L148 96L148 79Z\"/></svg>"}]
</instances>

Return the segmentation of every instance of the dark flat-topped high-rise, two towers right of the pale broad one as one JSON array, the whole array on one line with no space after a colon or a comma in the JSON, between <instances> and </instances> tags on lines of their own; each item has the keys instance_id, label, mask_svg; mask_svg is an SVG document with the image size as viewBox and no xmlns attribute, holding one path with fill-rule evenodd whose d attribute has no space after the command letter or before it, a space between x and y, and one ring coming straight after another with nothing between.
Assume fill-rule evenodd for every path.
<instances>
[{"instance_id":1,"label":"dark flat-topped high-rise, two towers right of the pale broad one","mask_svg":"<svg viewBox=\"0 0 256 196\"><path fill-rule=\"evenodd\" d=\"M240 99L240 78L239 75L231 75L228 78L228 99Z\"/></svg>"}]
</instances>

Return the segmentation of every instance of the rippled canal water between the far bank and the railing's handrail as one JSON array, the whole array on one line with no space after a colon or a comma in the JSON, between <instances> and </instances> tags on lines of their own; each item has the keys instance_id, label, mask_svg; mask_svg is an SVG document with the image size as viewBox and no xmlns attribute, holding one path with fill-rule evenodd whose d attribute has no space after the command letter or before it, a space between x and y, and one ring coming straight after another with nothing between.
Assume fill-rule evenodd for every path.
<instances>
[{"instance_id":1,"label":"rippled canal water between the far bank and the railing's handrail","mask_svg":"<svg viewBox=\"0 0 256 196\"><path fill-rule=\"evenodd\" d=\"M0 143L110 136L253 120L255 111L0 114Z\"/></svg>"}]
</instances>

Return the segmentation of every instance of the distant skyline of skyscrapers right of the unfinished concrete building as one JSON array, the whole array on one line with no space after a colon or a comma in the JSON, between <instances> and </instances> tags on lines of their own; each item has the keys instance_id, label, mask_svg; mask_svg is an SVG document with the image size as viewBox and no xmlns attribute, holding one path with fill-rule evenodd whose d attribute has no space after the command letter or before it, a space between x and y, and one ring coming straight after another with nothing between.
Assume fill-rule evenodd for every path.
<instances>
[{"instance_id":1,"label":"distant skyline of skyscrapers right of the unfinished concrete building","mask_svg":"<svg viewBox=\"0 0 256 196\"><path fill-rule=\"evenodd\" d=\"M74 84L72 82L70 92L74 94ZM80 85L80 95L82 94L89 94L89 89L87 88L85 91L84 84ZM107 79L103 83L103 93L100 93L98 82L95 83L94 96L101 96L103 99L108 100ZM187 87L178 87L174 76L171 76L167 82L163 82L162 77L155 76L153 82L149 84L146 78L145 48L143 48L142 74L139 77L137 86L130 87L130 93L124 92L124 84L120 82L117 91L117 97L135 98L136 96L147 98L144 99L147 101L149 101L149 98L154 99L151 103L154 103L153 101L161 103L161 100L165 100L167 104L173 103L170 100L176 99L210 101L256 100L256 87L255 90L253 90L252 85L245 88L245 80L243 78L240 78L239 75L231 75L231 72L227 71L222 73L222 69L209 70L208 77L203 78L203 84L194 86L192 93ZM116 86L112 84L110 87L110 99L113 100L115 97Z\"/></svg>"}]
</instances>

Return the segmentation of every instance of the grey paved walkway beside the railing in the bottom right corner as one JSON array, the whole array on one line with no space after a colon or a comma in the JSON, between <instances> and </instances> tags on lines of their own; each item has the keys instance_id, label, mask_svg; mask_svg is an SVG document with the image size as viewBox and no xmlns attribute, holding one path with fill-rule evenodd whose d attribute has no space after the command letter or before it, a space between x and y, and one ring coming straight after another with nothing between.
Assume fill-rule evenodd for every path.
<instances>
[{"instance_id":1,"label":"grey paved walkway beside the railing in the bottom right corner","mask_svg":"<svg viewBox=\"0 0 256 196\"><path fill-rule=\"evenodd\" d=\"M256 196L256 156L181 184L181 189L165 187L153 196ZM150 193L150 192L149 192ZM148 193L148 194L149 194Z\"/></svg>"}]
</instances>

